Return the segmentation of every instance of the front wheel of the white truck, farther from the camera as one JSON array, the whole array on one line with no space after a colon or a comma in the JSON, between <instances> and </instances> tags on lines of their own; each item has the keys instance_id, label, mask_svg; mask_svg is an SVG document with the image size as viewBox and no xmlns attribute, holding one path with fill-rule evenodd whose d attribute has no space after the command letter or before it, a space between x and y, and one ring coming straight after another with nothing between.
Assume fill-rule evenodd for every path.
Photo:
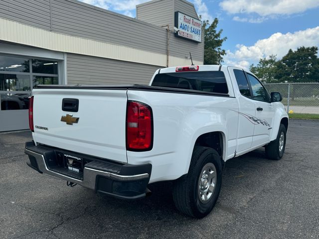
<instances>
[{"instance_id":1,"label":"front wheel of the white truck, farther from the camera","mask_svg":"<svg viewBox=\"0 0 319 239\"><path fill-rule=\"evenodd\" d=\"M277 138L265 147L266 156L272 160L280 160L285 152L287 130L284 124L280 124ZM284 137L284 138L283 138Z\"/></svg>"}]
</instances>

